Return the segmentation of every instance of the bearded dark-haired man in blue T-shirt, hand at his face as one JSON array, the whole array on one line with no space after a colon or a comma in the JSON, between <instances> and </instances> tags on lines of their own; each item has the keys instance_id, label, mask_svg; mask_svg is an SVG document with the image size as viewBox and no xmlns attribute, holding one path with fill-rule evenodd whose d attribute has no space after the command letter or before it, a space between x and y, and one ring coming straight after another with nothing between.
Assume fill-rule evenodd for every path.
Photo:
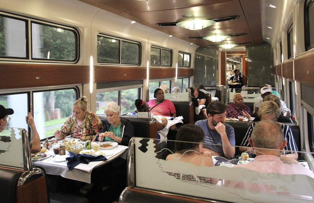
<instances>
[{"instance_id":1,"label":"bearded dark-haired man in blue T-shirt, hand at his face","mask_svg":"<svg viewBox=\"0 0 314 203\"><path fill-rule=\"evenodd\" d=\"M233 127L225 124L226 109L227 106L223 103L211 102L206 109L208 119L199 120L195 125L200 126L205 132L204 150L211 152L212 155L224 154L226 158L231 159L236 153L236 148L232 147L236 140Z\"/></svg>"}]
</instances>

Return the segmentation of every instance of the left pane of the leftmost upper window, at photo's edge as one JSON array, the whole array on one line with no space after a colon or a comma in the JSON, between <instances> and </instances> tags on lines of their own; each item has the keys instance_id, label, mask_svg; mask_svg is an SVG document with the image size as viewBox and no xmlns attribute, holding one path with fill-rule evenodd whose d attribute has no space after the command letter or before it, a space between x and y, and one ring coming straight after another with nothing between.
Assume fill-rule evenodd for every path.
<instances>
[{"instance_id":1,"label":"left pane of the leftmost upper window, at photo's edge","mask_svg":"<svg viewBox=\"0 0 314 203\"><path fill-rule=\"evenodd\" d=\"M27 21L0 14L0 57L28 57Z\"/></svg>"}]
</instances>

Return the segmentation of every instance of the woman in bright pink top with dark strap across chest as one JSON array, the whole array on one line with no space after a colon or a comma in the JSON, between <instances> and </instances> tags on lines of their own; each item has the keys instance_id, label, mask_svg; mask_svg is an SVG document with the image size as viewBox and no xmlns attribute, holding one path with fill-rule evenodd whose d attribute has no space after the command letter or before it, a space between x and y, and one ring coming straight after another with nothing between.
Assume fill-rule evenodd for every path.
<instances>
[{"instance_id":1,"label":"woman in bright pink top with dark strap across chest","mask_svg":"<svg viewBox=\"0 0 314 203\"><path fill-rule=\"evenodd\" d=\"M153 115L162 115L162 116L172 116L176 117L176 109L172 102L168 99L165 99L164 91L160 88L157 88L154 92L154 98L148 102L150 107L150 113ZM170 129L175 129L176 125L170 127Z\"/></svg>"}]
</instances>

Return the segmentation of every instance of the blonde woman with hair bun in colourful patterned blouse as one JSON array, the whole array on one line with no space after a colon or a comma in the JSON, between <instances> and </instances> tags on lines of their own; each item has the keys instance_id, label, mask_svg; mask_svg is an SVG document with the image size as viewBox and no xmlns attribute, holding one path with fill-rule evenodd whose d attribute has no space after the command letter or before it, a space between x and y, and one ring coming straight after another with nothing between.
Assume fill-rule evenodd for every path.
<instances>
[{"instance_id":1,"label":"blonde woman with hair bun in colourful patterned blouse","mask_svg":"<svg viewBox=\"0 0 314 203\"><path fill-rule=\"evenodd\" d=\"M61 130L56 130L53 135L62 140L67 135L83 141L92 140L102 128L99 117L87 111L87 98L79 98L73 103L72 115L64 122Z\"/></svg>"}]
</instances>

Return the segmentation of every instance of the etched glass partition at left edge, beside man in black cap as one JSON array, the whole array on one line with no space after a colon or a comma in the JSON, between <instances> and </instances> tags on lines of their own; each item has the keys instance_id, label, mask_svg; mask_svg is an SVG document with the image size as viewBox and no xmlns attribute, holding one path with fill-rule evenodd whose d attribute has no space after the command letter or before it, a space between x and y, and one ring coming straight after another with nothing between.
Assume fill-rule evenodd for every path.
<instances>
[{"instance_id":1,"label":"etched glass partition at left edge, beside man in black cap","mask_svg":"<svg viewBox=\"0 0 314 203\"><path fill-rule=\"evenodd\" d=\"M28 151L25 145L26 133L23 128L0 127L0 165L29 168L26 159L29 154L25 153Z\"/></svg>"}]
</instances>

